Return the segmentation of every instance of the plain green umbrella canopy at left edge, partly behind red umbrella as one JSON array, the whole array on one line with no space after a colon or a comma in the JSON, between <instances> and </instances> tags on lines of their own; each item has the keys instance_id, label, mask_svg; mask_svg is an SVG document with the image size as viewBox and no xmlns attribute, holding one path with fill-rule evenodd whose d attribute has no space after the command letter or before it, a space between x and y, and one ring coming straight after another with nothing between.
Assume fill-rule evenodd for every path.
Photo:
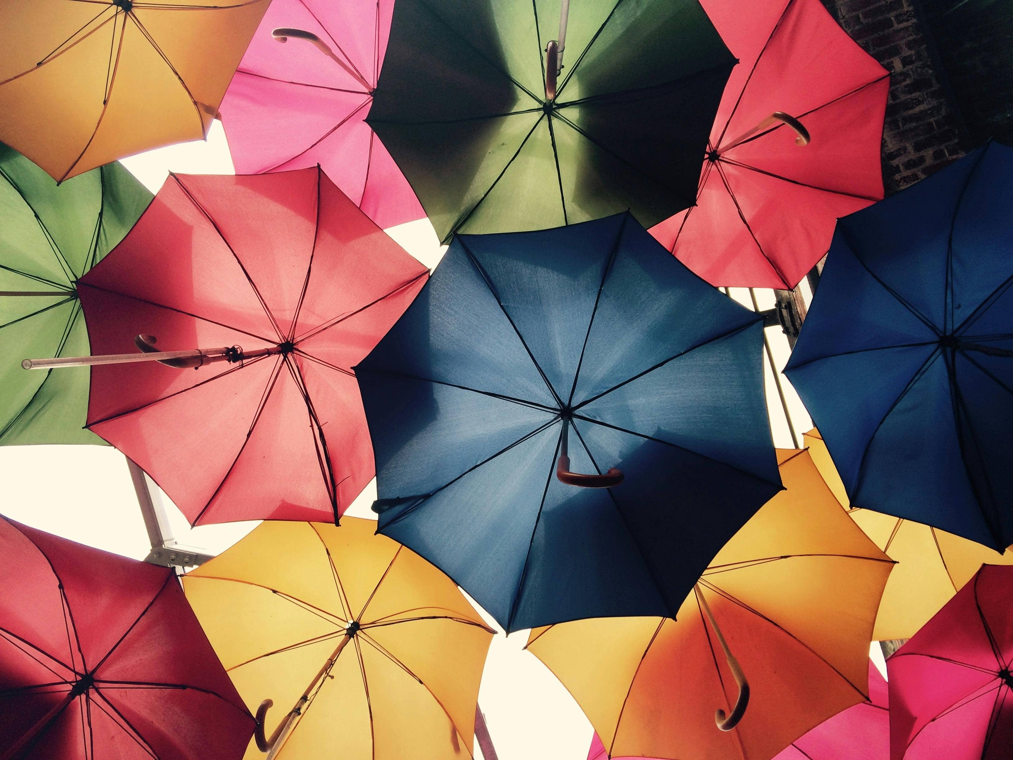
<instances>
[{"instance_id":1,"label":"plain green umbrella canopy at left edge, partly behind red umbrella","mask_svg":"<svg viewBox=\"0 0 1013 760\"><path fill-rule=\"evenodd\" d=\"M151 194L119 163L58 185L0 144L0 444L100 444L84 430L88 371L24 372L27 356L88 353L77 280Z\"/></svg>"}]
</instances>

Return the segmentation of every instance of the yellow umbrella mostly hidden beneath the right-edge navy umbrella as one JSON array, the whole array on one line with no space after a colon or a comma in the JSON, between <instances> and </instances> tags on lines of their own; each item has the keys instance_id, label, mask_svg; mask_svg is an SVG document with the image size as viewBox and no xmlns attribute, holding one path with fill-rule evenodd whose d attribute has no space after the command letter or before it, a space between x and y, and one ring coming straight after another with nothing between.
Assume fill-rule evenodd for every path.
<instances>
[{"instance_id":1,"label":"yellow umbrella mostly hidden beneath the right-edge navy umbrella","mask_svg":"<svg viewBox=\"0 0 1013 760\"><path fill-rule=\"evenodd\" d=\"M983 562L1013 564L1013 552L1008 549L1000 554L988 546L922 523L852 509L819 431L810 430L803 438L834 496L876 546L898 563L886 583L872 630L877 641L911 638L978 573Z\"/></svg>"}]
</instances>

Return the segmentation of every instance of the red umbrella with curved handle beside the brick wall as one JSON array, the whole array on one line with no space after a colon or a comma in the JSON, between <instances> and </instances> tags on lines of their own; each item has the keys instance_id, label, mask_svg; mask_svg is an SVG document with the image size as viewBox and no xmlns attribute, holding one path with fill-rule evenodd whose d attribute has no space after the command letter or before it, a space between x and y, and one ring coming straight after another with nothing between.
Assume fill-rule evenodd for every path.
<instances>
[{"instance_id":1,"label":"red umbrella with curved handle beside the brick wall","mask_svg":"<svg viewBox=\"0 0 1013 760\"><path fill-rule=\"evenodd\" d=\"M889 75L820 0L702 0L739 64L697 205L650 232L716 286L793 288L838 217L883 197Z\"/></svg>"}]
</instances>

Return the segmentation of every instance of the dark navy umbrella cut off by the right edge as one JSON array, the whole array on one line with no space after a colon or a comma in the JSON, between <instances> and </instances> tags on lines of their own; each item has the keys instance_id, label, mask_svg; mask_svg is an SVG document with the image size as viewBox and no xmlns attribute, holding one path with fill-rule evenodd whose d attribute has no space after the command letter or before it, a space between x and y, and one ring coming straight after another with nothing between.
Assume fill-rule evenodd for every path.
<instances>
[{"instance_id":1,"label":"dark navy umbrella cut off by the right edge","mask_svg":"<svg viewBox=\"0 0 1013 760\"><path fill-rule=\"evenodd\" d=\"M852 507L1013 543L1013 148L840 220L786 372Z\"/></svg>"}]
</instances>

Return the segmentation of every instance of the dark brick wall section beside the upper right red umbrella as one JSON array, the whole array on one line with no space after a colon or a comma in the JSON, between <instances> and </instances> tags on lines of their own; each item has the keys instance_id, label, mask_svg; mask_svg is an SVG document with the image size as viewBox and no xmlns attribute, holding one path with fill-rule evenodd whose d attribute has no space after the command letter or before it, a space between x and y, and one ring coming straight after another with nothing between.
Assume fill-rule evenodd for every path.
<instances>
[{"instance_id":1,"label":"dark brick wall section beside the upper right red umbrella","mask_svg":"<svg viewBox=\"0 0 1013 760\"><path fill-rule=\"evenodd\" d=\"M886 195L938 171L969 147L916 2L823 0L845 31L890 72L882 150Z\"/></svg>"}]
</instances>

